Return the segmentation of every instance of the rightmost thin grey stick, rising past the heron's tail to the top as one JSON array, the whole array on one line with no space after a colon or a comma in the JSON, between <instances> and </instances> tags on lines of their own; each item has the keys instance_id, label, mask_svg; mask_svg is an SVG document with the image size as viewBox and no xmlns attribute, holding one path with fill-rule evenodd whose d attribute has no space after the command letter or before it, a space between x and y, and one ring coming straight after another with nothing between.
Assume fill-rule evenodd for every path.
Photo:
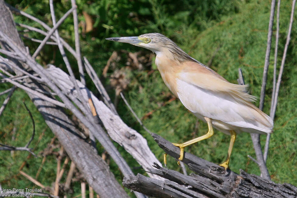
<instances>
[{"instance_id":1,"label":"rightmost thin grey stick, rising past the heron's tail to the top","mask_svg":"<svg viewBox=\"0 0 297 198\"><path fill-rule=\"evenodd\" d=\"M292 31L292 24L293 24L293 18L294 18L295 4L296 4L296 0L293 0L292 1L292 10L291 10L289 30L288 30L288 35L287 35L287 41L286 41L286 44L285 44L283 58L281 59L281 68L280 68L279 74L278 74L278 83L276 84L275 96L273 98L274 99L273 108L272 108L272 111L270 112L270 117L272 119L274 119L274 115L275 115L275 111L276 111L276 107L277 107L277 103L278 103L278 92L279 92L279 87L281 85L281 76L282 76L283 71L284 71L284 66L285 66L285 61L286 61L286 56L287 56L287 50L288 50L288 46L289 46L289 43L290 43L290 40L291 40L291 31ZM265 151L264 151L265 161L266 161L267 155L268 155L269 142L270 142L270 134L268 134L267 138L266 138Z\"/></svg>"}]
</instances>

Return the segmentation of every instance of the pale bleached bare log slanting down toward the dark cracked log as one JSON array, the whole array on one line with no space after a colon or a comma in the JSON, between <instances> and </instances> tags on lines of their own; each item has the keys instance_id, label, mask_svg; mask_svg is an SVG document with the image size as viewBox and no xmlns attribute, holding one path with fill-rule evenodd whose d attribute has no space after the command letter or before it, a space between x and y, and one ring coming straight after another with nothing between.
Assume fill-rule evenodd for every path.
<instances>
[{"instance_id":1,"label":"pale bleached bare log slanting down toward the dark cracked log","mask_svg":"<svg viewBox=\"0 0 297 198\"><path fill-rule=\"evenodd\" d=\"M74 85L67 73L53 65L51 65L47 71L60 82L60 89L72 92L74 95L76 95L76 97L78 97L78 93L76 90L74 90ZM105 129L107 130L108 135L122 147L124 147L125 150L131 154L134 159L136 159L136 161L143 167L144 170L146 170L148 167L152 167L153 162L161 165L161 163L151 152L147 145L147 140L143 138L143 136L141 136L134 129L131 129L129 126L127 126L118 115L115 115L102 101L99 101L98 98L95 97L94 94L88 90L87 87L85 87L79 80L77 80L77 84L80 87L84 99L92 99L96 112ZM97 134L94 133L94 136L97 136ZM154 174L149 173L148 175L151 178L162 179L161 177Z\"/></svg>"}]
</instances>

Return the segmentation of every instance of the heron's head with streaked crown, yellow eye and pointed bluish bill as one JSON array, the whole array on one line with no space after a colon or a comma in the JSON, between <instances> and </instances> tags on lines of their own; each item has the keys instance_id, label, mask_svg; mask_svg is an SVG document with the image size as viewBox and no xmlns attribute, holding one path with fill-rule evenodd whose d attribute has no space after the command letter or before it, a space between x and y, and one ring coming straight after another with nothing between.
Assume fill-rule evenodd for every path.
<instances>
[{"instance_id":1,"label":"heron's head with streaked crown, yellow eye and pointed bluish bill","mask_svg":"<svg viewBox=\"0 0 297 198\"><path fill-rule=\"evenodd\" d=\"M158 54L166 54L168 57L174 58L178 61L189 60L197 62L186 52L182 51L182 49L179 48L179 46L177 46L173 41L160 33L142 34L138 37L114 37L106 39L122 43L130 43L132 45L146 48L156 53L157 56Z\"/></svg>"}]
</instances>

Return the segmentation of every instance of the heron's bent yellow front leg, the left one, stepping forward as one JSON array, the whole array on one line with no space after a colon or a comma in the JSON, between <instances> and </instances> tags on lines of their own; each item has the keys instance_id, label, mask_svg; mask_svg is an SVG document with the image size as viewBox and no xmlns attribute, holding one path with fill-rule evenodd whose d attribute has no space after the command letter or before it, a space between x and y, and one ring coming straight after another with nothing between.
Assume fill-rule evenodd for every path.
<instances>
[{"instance_id":1,"label":"heron's bent yellow front leg, the left one, stepping forward","mask_svg":"<svg viewBox=\"0 0 297 198\"><path fill-rule=\"evenodd\" d=\"M205 134L203 136L200 136L200 137L197 137L197 138L195 138L193 140L189 140L189 141L187 141L185 143L182 143L182 144L173 143L174 146L180 148L180 157L179 157L179 160L182 160L184 158L184 149L185 149L185 147L187 147L187 146L189 146L189 145L191 145L193 143L199 142L201 140L205 140L207 138L210 138L212 135L214 135L214 130L213 130L212 126L211 126L211 120L210 120L210 118L204 117L204 119L206 120L207 126L208 126L208 132L207 132L207 134ZM165 156L164 156L164 158L165 158ZM177 163L179 164L179 161Z\"/></svg>"}]
</instances>

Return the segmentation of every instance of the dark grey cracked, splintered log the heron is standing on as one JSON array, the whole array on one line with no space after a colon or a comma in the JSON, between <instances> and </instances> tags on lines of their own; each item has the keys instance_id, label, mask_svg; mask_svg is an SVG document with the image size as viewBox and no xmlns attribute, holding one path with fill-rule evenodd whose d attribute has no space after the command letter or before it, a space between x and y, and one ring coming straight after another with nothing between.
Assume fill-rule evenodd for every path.
<instances>
[{"instance_id":1,"label":"dark grey cracked, splintered log the heron is standing on","mask_svg":"<svg viewBox=\"0 0 297 198\"><path fill-rule=\"evenodd\" d=\"M178 147L156 134L152 136L167 154L179 158ZM238 175L186 152L182 161L195 173L187 176L154 164L157 169L150 169L150 173L163 177L164 181L138 174L125 177L123 185L155 197L297 197L297 187L291 184L276 184L243 170Z\"/></svg>"}]
</instances>

